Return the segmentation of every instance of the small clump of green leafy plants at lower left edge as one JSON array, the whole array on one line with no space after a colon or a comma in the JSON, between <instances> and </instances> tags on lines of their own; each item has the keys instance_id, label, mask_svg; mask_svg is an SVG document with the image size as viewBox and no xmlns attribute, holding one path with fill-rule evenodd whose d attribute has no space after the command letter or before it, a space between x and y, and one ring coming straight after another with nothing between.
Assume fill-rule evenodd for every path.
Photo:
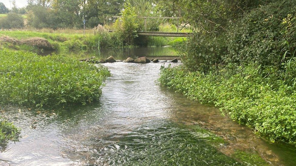
<instances>
[{"instance_id":1,"label":"small clump of green leafy plants at lower left edge","mask_svg":"<svg viewBox=\"0 0 296 166\"><path fill-rule=\"evenodd\" d=\"M7 145L9 140L17 141L20 130L13 123L0 117L0 149Z\"/></svg>"}]
</instances>

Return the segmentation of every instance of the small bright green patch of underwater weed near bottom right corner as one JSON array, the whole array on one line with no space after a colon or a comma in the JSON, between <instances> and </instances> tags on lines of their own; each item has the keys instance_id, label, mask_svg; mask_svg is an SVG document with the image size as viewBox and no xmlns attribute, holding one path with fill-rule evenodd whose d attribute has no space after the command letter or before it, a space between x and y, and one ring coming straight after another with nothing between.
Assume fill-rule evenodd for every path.
<instances>
[{"instance_id":1,"label":"small bright green patch of underwater weed near bottom right corner","mask_svg":"<svg viewBox=\"0 0 296 166\"><path fill-rule=\"evenodd\" d=\"M248 153L240 150L236 150L232 157L238 161L244 162L246 165L269 165L264 159L262 159L257 153Z\"/></svg>"}]
</instances>

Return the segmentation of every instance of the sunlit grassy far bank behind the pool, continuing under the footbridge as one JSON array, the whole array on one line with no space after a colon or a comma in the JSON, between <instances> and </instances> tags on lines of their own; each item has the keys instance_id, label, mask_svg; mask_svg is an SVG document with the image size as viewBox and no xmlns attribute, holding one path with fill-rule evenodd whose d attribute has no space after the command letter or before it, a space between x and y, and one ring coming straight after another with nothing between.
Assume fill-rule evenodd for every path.
<instances>
[{"instance_id":1,"label":"sunlit grassy far bank behind the pool, continuing under the footbridge","mask_svg":"<svg viewBox=\"0 0 296 166\"><path fill-rule=\"evenodd\" d=\"M182 44L185 37L137 37L133 45L125 45L120 34L117 32L109 33L108 31L96 32L89 30L86 34L75 30L52 30L41 29L36 31L31 30L2 30L0 37L11 38L14 41L24 41L32 38L42 38L49 42L50 47L44 50L98 50L99 48L113 47L163 47L171 46L178 47ZM75 33L77 32L77 33ZM80 32L80 33L79 33ZM11 40L1 40L0 47L13 50L26 50L38 52L37 43L26 42L11 42Z\"/></svg>"}]
</instances>

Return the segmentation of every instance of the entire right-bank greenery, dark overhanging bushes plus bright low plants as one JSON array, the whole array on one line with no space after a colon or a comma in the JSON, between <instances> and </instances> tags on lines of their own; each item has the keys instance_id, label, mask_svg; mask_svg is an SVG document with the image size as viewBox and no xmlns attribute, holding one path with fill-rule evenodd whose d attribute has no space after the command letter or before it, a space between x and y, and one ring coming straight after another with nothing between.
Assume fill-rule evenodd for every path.
<instances>
[{"instance_id":1,"label":"entire right-bank greenery, dark overhanging bushes plus bright low plants","mask_svg":"<svg viewBox=\"0 0 296 166\"><path fill-rule=\"evenodd\" d=\"M294 2L180 3L197 29L182 47L183 65L164 69L160 83L271 142L296 145Z\"/></svg>"}]
</instances>

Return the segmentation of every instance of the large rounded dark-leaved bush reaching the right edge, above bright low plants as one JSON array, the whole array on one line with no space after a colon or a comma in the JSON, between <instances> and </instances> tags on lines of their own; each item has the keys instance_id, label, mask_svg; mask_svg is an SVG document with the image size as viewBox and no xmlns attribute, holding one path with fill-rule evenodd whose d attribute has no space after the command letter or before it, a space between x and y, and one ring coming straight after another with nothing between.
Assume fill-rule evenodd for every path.
<instances>
[{"instance_id":1,"label":"large rounded dark-leaved bush reaching the right edge, above bright low plants","mask_svg":"<svg viewBox=\"0 0 296 166\"><path fill-rule=\"evenodd\" d=\"M285 43L295 47L294 1L284 0L248 12L240 21L231 25L228 34L227 63L254 62L258 65L280 67ZM292 17L293 16L293 17ZM288 58L287 58L288 60Z\"/></svg>"}]
</instances>

